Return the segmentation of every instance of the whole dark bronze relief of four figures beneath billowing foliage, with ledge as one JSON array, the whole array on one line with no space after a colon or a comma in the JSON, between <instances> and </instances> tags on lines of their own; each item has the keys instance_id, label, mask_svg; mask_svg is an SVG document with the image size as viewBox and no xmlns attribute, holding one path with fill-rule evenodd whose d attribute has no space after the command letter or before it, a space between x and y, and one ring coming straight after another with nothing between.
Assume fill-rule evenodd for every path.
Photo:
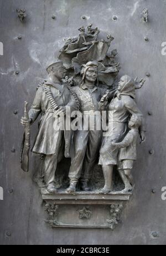
<instances>
[{"instance_id":1,"label":"whole dark bronze relief of four figures beneath billowing foliage, with ledge","mask_svg":"<svg viewBox=\"0 0 166 256\"><path fill-rule=\"evenodd\" d=\"M42 188L46 209L54 209L59 204L66 208L69 204L72 207L92 204L95 211L97 205L113 205L115 209L121 205L122 210L122 202L132 195L138 135L141 142L146 139L143 114L134 101L136 89L141 88L145 80L137 83L125 75L116 85L120 71L120 64L115 62L117 51L108 52L114 38L107 35L106 40L98 40L100 31L92 28L92 24L87 31L84 27L79 31L79 37L66 40L60 50L60 61L47 68L49 78L38 86L29 113L22 117L21 123L27 135L27 127L29 129L40 115L32 152L43 159L38 185ZM26 141L25 137L21 154L23 170L28 170ZM61 179L58 189L57 166L64 157L71 159L70 166L65 168L67 185ZM113 178L115 168L116 178L115 175ZM63 171L60 175L64 176ZM58 221L58 209L56 207L56 220L48 220L51 227L113 229L117 224L117 220L113 225L107 220L94 224L92 209L91 225L80 224L81 220L77 220L77 224L64 224ZM103 210L107 214L108 209Z\"/></svg>"}]
</instances>

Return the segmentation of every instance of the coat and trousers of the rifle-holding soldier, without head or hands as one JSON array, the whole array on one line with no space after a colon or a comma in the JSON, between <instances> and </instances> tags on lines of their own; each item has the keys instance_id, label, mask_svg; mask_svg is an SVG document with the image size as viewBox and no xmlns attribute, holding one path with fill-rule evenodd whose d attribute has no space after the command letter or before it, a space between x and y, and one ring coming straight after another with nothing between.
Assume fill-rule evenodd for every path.
<instances>
[{"instance_id":1,"label":"coat and trousers of the rifle-holding soldier, without head or hands","mask_svg":"<svg viewBox=\"0 0 166 256\"><path fill-rule=\"evenodd\" d=\"M71 112L77 110L76 101L66 85L58 85L53 83L53 81L48 81L45 82L43 86L38 88L32 107L29 110L29 118L33 123L39 114L42 114L39 131L35 139L32 151L37 154L45 155L43 171L46 186L54 183L55 181L55 171L59 156L63 156L64 154L65 157L70 157L70 145L72 137L71 130L63 131L55 129L55 121L57 120L55 120L54 117L55 111L51 109L50 101L44 90L44 87L48 85L50 86L51 93L59 107L68 106L71 108ZM64 139L65 151L63 149Z\"/></svg>"}]
</instances>

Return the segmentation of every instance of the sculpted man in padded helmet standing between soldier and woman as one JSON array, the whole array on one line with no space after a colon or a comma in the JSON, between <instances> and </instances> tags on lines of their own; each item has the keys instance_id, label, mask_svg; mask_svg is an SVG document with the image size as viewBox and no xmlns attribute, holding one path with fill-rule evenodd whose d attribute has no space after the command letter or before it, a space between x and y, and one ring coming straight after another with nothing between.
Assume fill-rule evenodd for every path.
<instances>
[{"instance_id":1,"label":"sculpted man in padded helmet standing between soldier and woman","mask_svg":"<svg viewBox=\"0 0 166 256\"><path fill-rule=\"evenodd\" d=\"M70 186L68 193L75 191L76 184L81 178L82 190L89 191L89 180L92 175L92 168L95 164L98 148L100 146L102 129L96 130L97 122L101 123L101 116L96 115L100 111L98 102L103 95L98 83L97 62L87 62L81 69L82 83L80 86L72 87L80 101L80 110L88 118L82 121L82 130L74 132L73 152L71 154L71 166L69 171ZM90 127L90 117L94 118L94 128ZM99 120L100 119L100 120ZM88 121L86 121L88 120ZM88 122L88 124L84 124ZM86 125L87 130L83 130Z\"/></svg>"}]
</instances>

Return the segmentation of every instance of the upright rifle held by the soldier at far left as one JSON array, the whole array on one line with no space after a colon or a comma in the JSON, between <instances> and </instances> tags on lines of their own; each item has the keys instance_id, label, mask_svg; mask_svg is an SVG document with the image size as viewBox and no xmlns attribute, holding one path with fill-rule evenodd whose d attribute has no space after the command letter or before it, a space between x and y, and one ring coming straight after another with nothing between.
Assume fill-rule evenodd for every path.
<instances>
[{"instance_id":1,"label":"upright rifle held by the soldier at far left","mask_svg":"<svg viewBox=\"0 0 166 256\"><path fill-rule=\"evenodd\" d=\"M24 102L24 118L29 120L28 115L28 102ZM24 128L23 141L20 153L20 163L23 171L29 171L29 149L30 149L30 123Z\"/></svg>"}]
</instances>

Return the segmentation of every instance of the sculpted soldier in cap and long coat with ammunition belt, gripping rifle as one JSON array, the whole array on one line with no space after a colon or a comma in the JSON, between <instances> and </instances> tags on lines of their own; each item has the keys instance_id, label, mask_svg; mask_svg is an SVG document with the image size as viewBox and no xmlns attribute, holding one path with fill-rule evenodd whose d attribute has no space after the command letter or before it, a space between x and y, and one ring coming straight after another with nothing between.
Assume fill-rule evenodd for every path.
<instances>
[{"instance_id":1,"label":"sculpted soldier in cap and long coat with ammunition belt, gripping rifle","mask_svg":"<svg viewBox=\"0 0 166 256\"><path fill-rule=\"evenodd\" d=\"M71 111L77 109L76 101L68 87L62 85L61 80L66 75L66 69L62 62L56 62L47 68L49 80L40 86L35 95L32 107L29 110L29 120L22 117L21 124L26 126L28 122L33 124L39 114L42 114L39 131L34 142L32 152L44 155L44 179L46 189L53 193L55 188L55 171L58 156L65 140L65 157L69 157L71 131L63 131L54 127L56 116L66 113L66 106ZM58 124L58 122L56 122Z\"/></svg>"}]
</instances>

